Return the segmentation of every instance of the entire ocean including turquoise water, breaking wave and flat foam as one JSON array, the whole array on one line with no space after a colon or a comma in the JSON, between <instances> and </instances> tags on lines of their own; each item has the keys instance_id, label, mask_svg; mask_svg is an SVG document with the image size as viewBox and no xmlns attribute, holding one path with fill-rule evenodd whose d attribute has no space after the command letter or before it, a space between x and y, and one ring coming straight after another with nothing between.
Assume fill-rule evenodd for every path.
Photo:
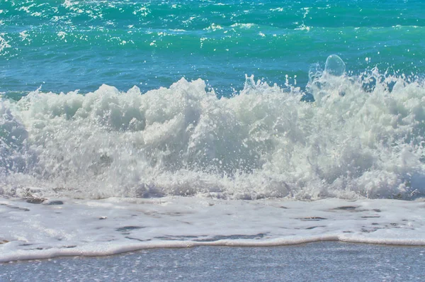
<instances>
[{"instance_id":1,"label":"entire ocean including turquoise water, breaking wave and flat foam","mask_svg":"<svg viewBox=\"0 0 425 282\"><path fill-rule=\"evenodd\" d=\"M425 245L425 2L0 0L0 261Z\"/></svg>"}]
</instances>

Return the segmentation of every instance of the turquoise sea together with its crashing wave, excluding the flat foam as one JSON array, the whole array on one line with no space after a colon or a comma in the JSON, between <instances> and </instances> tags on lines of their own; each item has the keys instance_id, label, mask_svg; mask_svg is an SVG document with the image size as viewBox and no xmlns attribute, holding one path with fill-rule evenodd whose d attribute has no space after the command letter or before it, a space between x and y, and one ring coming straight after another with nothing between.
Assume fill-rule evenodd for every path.
<instances>
[{"instance_id":1,"label":"turquoise sea together with its crashing wave, excluding the flat foam","mask_svg":"<svg viewBox=\"0 0 425 282\"><path fill-rule=\"evenodd\" d=\"M424 1L0 0L0 194L423 196L424 35Z\"/></svg>"}]
</instances>

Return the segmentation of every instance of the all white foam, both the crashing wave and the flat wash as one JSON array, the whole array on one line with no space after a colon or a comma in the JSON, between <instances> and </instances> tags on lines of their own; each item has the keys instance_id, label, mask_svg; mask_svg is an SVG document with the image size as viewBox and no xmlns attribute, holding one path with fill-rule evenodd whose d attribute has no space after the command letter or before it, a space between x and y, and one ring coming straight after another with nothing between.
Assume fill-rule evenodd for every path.
<instances>
[{"instance_id":1,"label":"all white foam, both the crashing wave and the flat wash","mask_svg":"<svg viewBox=\"0 0 425 282\"><path fill-rule=\"evenodd\" d=\"M200 79L145 94L103 85L1 98L0 261L319 240L424 245L423 83L352 77L330 60L310 70L314 103L254 77L232 98Z\"/></svg>"}]
</instances>

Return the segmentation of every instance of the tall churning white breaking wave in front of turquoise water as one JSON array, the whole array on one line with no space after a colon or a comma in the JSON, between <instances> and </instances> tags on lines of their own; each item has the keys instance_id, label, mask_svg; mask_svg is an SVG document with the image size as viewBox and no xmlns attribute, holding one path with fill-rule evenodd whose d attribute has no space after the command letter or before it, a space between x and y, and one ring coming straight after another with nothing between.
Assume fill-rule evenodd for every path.
<instances>
[{"instance_id":1,"label":"tall churning white breaking wave in front of turquoise water","mask_svg":"<svg viewBox=\"0 0 425 282\"><path fill-rule=\"evenodd\" d=\"M338 65L338 64L337 64ZM425 88L374 72L310 72L299 88L247 78L232 98L201 79L140 93L34 91L0 103L3 193L255 199L417 198Z\"/></svg>"}]
</instances>

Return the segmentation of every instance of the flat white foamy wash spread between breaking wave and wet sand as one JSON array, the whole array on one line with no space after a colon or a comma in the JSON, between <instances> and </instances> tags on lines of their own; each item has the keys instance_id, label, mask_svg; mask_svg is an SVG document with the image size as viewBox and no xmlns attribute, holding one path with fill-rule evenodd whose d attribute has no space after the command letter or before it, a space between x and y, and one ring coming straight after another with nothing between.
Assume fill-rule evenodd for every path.
<instances>
[{"instance_id":1,"label":"flat white foamy wash spread between breaking wave and wet sand","mask_svg":"<svg viewBox=\"0 0 425 282\"><path fill-rule=\"evenodd\" d=\"M0 198L0 262L158 247L316 241L424 245L423 201Z\"/></svg>"}]
</instances>

